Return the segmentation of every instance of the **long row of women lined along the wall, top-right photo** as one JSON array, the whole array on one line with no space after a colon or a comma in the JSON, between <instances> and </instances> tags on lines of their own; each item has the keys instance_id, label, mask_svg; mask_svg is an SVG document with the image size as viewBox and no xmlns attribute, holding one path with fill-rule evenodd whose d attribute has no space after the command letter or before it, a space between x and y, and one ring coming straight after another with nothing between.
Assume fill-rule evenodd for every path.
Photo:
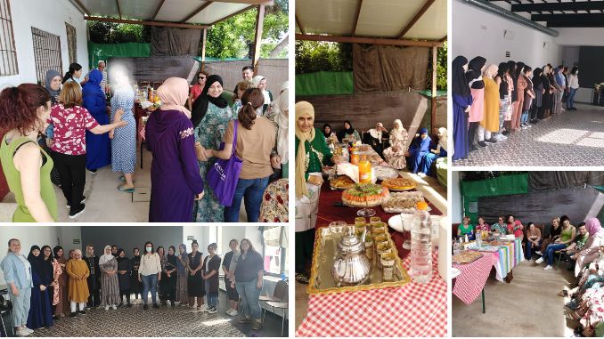
<instances>
[{"instance_id":1,"label":"long row of women lined along the wall, top-right photo","mask_svg":"<svg viewBox=\"0 0 604 339\"><path fill-rule=\"evenodd\" d=\"M579 69L547 64L533 69L524 62L486 66L480 56L453 60L453 160L487 143L505 141L512 132L539 120L574 110Z\"/></svg>"}]
</instances>

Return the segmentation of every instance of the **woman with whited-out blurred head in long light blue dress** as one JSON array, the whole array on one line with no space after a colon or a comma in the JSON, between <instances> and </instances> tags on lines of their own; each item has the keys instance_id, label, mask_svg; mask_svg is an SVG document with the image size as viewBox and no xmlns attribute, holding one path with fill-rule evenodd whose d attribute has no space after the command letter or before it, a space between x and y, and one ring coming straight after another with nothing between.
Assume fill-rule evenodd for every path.
<instances>
[{"instance_id":1,"label":"woman with whited-out blurred head in long light blue dress","mask_svg":"<svg viewBox=\"0 0 604 339\"><path fill-rule=\"evenodd\" d=\"M111 141L111 167L113 172L121 172L119 180L124 182L118 186L122 192L135 191L136 165L136 122L135 92L127 78L126 70L114 71L114 93L111 97L110 121L126 121L127 125L120 126L109 134Z\"/></svg>"}]
</instances>

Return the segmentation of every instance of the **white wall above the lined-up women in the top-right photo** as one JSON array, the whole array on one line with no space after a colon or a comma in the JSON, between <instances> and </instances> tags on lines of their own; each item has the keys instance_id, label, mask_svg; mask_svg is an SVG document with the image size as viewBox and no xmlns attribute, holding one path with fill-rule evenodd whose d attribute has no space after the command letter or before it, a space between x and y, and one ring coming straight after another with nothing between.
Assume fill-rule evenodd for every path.
<instances>
[{"instance_id":1,"label":"white wall above the lined-up women in the top-right photo","mask_svg":"<svg viewBox=\"0 0 604 339\"><path fill-rule=\"evenodd\" d=\"M452 11L452 60L458 55L468 60L480 55L486 58L487 64L523 61L533 69L560 61L559 45L552 36L479 10L461 0L453 0ZM513 40L503 37L506 30L514 33ZM544 43L549 44L549 49L543 48ZM510 58L505 57L505 52L510 52Z\"/></svg>"}]
</instances>

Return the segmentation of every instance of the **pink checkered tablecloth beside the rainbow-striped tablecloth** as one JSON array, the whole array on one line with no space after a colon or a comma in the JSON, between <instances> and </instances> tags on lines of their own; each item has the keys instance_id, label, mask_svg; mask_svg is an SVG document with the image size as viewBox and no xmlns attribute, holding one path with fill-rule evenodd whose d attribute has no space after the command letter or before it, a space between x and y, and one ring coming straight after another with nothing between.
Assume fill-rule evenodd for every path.
<instances>
[{"instance_id":1,"label":"pink checkered tablecloth beside the rainbow-striped tablecloth","mask_svg":"<svg viewBox=\"0 0 604 339\"><path fill-rule=\"evenodd\" d=\"M455 279L453 295L469 305L474 302L485 287L486 279L489 278L491 268L499 261L495 253L482 252L483 257L475 262L464 264L453 264L453 267L461 270L459 277Z\"/></svg>"}]
</instances>

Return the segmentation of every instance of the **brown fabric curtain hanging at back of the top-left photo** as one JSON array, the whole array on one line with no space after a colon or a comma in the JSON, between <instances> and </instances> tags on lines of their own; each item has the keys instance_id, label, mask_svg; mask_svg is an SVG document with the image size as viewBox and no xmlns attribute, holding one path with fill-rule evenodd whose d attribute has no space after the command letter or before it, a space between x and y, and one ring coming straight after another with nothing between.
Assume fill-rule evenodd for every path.
<instances>
[{"instance_id":1,"label":"brown fabric curtain hanging at back of the top-left photo","mask_svg":"<svg viewBox=\"0 0 604 339\"><path fill-rule=\"evenodd\" d=\"M151 28L151 56L200 55L201 29Z\"/></svg>"}]
</instances>

